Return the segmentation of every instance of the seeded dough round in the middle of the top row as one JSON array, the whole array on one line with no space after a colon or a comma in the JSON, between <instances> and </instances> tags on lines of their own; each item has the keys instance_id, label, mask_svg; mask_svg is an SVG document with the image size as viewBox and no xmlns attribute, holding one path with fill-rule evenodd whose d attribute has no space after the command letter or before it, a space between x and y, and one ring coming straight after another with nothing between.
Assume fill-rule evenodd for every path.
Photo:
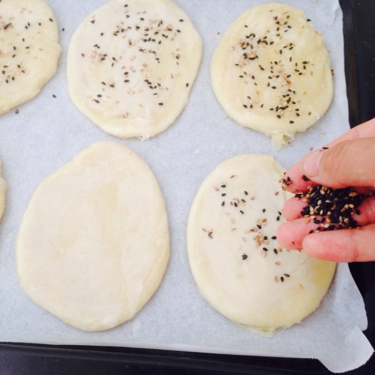
<instances>
[{"instance_id":1,"label":"seeded dough round in the middle of the top row","mask_svg":"<svg viewBox=\"0 0 375 375\"><path fill-rule=\"evenodd\" d=\"M73 34L67 56L69 93L107 133L149 138L187 104L202 42L171 0L113 0Z\"/></svg>"}]
</instances>

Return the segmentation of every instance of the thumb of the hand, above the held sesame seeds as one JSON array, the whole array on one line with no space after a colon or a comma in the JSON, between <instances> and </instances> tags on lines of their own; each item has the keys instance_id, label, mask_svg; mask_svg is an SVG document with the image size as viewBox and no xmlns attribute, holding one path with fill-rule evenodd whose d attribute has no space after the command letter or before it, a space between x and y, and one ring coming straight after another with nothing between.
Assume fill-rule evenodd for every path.
<instances>
[{"instance_id":1,"label":"thumb of the hand, above the held sesame seeds","mask_svg":"<svg viewBox=\"0 0 375 375\"><path fill-rule=\"evenodd\" d=\"M344 140L328 149L308 153L302 174L334 188L375 186L375 137Z\"/></svg>"}]
</instances>

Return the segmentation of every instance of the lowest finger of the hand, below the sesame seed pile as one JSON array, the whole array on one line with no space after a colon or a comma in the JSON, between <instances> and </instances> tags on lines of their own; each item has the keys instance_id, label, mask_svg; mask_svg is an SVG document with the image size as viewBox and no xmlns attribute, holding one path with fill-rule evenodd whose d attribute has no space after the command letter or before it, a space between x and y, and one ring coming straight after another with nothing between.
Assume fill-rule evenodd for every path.
<instances>
[{"instance_id":1,"label":"lowest finger of the hand, below the sesame seed pile","mask_svg":"<svg viewBox=\"0 0 375 375\"><path fill-rule=\"evenodd\" d=\"M312 233L304 237L310 256L337 262L375 260L375 223L353 229Z\"/></svg>"}]
</instances>

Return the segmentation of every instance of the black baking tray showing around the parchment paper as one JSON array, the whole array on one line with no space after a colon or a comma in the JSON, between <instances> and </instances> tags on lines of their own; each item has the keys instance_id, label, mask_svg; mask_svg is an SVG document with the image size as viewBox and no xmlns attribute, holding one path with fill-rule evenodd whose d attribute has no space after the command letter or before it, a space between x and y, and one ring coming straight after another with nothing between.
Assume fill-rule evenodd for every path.
<instances>
[{"instance_id":1,"label":"black baking tray showing around the parchment paper","mask_svg":"<svg viewBox=\"0 0 375 375\"><path fill-rule=\"evenodd\" d=\"M340 0L345 41L349 123L375 117L375 1ZM349 265L368 317L364 332L375 346L375 262ZM0 343L0 375L82 374L328 374L314 359L194 353L111 346ZM347 374L373 375L375 356Z\"/></svg>"}]
</instances>

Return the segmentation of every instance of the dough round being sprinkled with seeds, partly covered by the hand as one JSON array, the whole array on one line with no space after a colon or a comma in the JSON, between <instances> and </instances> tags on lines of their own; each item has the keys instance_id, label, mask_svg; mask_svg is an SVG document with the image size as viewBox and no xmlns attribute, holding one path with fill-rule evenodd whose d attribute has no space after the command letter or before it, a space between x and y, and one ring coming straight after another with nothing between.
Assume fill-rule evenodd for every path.
<instances>
[{"instance_id":1,"label":"dough round being sprinkled with seeds, partly covered by the hand","mask_svg":"<svg viewBox=\"0 0 375 375\"><path fill-rule=\"evenodd\" d=\"M283 168L273 157L236 156L204 180L187 224L190 268L217 311L261 335L299 322L326 293L335 263L281 248Z\"/></svg>"}]
</instances>

